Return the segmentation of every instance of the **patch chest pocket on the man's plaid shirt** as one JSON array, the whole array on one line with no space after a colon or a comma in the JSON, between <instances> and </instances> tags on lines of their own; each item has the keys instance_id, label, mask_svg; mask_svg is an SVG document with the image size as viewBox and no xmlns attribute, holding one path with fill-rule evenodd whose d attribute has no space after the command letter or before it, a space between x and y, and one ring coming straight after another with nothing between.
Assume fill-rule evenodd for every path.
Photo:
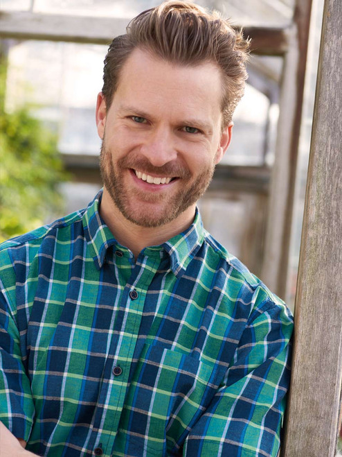
<instances>
[{"instance_id":1,"label":"patch chest pocket on the man's plaid shirt","mask_svg":"<svg viewBox=\"0 0 342 457\"><path fill-rule=\"evenodd\" d=\"M147 447L150 454L177 455L224 372L196 355L145 345L125 400L120 433L135 445L141 441L140 449Z\"/></svg>"}]
</instances>

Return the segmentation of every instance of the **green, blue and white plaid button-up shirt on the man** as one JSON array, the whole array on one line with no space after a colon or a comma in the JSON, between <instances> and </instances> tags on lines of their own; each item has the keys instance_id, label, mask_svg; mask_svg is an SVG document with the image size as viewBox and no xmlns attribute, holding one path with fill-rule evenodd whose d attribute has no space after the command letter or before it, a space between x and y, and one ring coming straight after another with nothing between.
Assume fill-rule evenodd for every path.
<instances>
[{"instance_id":1,"label":"green, blue and white plaid button-up shirt on the man","mask_svg":"<svg viewBox=\"0 0 342 457\"><path fill-rule=\"evenodd\" d=\"M87 210L0 252L0 420L44 456L276 456L291 315L204 230L134 261Z\"/></svg>"}]
</instances>

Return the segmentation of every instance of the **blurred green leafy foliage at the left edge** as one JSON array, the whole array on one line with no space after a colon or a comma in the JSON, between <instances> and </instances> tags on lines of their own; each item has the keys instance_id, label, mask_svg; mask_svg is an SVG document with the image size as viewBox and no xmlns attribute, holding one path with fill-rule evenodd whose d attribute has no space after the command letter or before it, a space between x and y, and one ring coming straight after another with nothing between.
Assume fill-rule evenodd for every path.
<instances>
[{"instance_id":1,"label":"blurred green leafy foliage at the left edge","mask_svg":"<svg viewBox=\"0 0 342 457\"><path fill-rule=\"evenodd\" d=\"M0 71L0 85L4 81ZM4 86L4 84L2 84ZM2 92L2 91L1 91ZM0 105L4 106L3 94ZM42 225L61 209L65 180L57 137L28 109L0 117L0 241Z\"/></svg>"}]
</instances>

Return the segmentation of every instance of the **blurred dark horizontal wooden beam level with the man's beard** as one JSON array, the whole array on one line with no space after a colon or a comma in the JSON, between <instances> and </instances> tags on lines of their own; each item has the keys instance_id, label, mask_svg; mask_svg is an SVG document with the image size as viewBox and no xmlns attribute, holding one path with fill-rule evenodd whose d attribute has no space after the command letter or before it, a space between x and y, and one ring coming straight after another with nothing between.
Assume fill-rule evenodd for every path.
<instances>
[{"instance_id":1,"label":"blurred dark horizontal wooden beam level with the man's beard","mask_svg":"<svg viewBox=\"0 0 342 457\"><path fill-rule=\"evenodd\" d=\"M62 154L64 166L75 182L100 184L96 155ZM267 195L271 171L266 166L217 165L209 191L239 191Z\"/></svg>"}]
</instances>

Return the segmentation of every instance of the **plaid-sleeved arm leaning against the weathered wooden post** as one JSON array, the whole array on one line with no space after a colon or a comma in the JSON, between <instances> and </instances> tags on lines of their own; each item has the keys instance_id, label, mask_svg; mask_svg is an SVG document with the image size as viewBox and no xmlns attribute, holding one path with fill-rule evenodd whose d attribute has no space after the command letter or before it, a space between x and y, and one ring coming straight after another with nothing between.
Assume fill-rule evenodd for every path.
<instances>
[{"instance_id":1,"label":"plaid-sleeved arm leaning against the weathered wooden post","mask_svg":"<svg viewBox=\"0 0 342 457\"><path fill-rule=\"evenodd\" d=\"M183 456L277 456L292 329L285 307L271 304L252 313L226 379L186 438Z\"/></svg>"}]
</instances>

